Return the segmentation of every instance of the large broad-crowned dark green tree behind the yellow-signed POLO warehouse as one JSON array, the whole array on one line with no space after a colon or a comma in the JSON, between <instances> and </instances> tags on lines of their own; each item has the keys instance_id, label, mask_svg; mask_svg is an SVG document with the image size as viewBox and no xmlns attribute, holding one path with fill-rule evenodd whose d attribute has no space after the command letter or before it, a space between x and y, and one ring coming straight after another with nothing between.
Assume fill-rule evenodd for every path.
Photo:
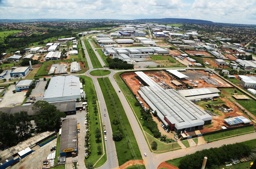
<instances>
[{"instance_id":1,"label":"large broad-crowned dark green tree behind the yellow-signed POLO warehouse","mask_svg":"<svg viewBox=\"0 0 256 169\"><path fill-rule=\"evenodd\" d=\"M42 130L57 130L61 125L61 118L65 118L66 114L60 112L56 106L49 104L46 101L37 101L34 103L32 110L35 110L35 123Z\"/></svg>"}]
</instances>

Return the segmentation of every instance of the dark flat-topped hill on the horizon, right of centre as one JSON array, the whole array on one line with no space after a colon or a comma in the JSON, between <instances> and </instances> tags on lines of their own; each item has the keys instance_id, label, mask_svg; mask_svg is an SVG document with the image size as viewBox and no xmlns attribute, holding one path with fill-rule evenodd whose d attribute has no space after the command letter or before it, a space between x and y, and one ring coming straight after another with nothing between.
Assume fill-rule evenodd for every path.
<instances>
[{"instance_id":1,"label":"dark flat-topped hill on the horizon, right of centre","mask_svg":"<svg viewBox=\"0 0 256 169\"><path fill-rule=\"evenodd\" d=\"M182 22L182 23L214 23L208 20L183 19L183 18L162 18L162 19L134 19L136 21L156 21L156 22Z\"/></svg>"}]
</instances>

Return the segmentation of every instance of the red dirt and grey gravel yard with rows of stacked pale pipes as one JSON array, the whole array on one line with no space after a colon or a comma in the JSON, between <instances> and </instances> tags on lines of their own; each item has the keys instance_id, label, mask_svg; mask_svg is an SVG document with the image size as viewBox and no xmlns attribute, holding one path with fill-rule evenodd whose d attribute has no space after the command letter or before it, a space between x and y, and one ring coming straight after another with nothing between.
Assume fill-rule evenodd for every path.
<instances>
[{"instance_id":1,"label":"red dirt and grey gravel yard with rows of stacked pale pipes","mask_svg":"<svg viewBox=\"0 0 256 169\"><path fill-rule=\"evenodd\" d=\"M217 75L214 74L209 74L204 72L203 70L190 70L190 71L186 71L186 72L182 72L184 75L188 76L188 80L185 80L183 82L188 83L190 86L195 85L196 83L193 83L189 80L192 81L198 81L198 88L202 88L202 87L232 87L230 84L228 84L227 82L224 82L223 80L221 80ZM209 76L210 75L210 76ZM199 77L202 76L207 76L207 77L211 77L212 79L214 79L216 82L218 82L220 85L216 86L213 84L208 84L206 83L204 80L201 80Z\"/></svg>"}]
</instances>

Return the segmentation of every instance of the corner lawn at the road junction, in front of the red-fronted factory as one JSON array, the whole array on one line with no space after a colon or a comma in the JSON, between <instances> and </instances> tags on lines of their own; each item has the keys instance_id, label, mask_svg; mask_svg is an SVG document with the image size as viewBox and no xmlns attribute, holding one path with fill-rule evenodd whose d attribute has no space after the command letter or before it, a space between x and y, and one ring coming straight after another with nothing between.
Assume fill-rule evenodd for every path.
<instances>
[{"instance_id":1,"label":"corner lawn at the road junction, in front of the red-fronted factory","mask_svg":"<svg viewBox=\"0 0 256 169\"><path fill-rule=\"evenodd\" d=\"M172 145L173 145L173 148L174 148L174 149L180 147L180 145L179 145L177 142L174 142L173 144L172 144L172 143L165 144L165 143L159 141L158 139L152 137L151 135L149 135L149 134L147 134L147 133L146 133L146 136L147 136L148 141L150 142L150 145L151 145L151 143L152 143L153 141L156 141L156 143L157 143L157 149L154 150L154 151L165 151L165 150L167 151L167 150L172 149ZM187 140L186 140L186 141L187 141ZM189 146L188 146L188 147L189 147Z\"/></svg>"}]
</instances>

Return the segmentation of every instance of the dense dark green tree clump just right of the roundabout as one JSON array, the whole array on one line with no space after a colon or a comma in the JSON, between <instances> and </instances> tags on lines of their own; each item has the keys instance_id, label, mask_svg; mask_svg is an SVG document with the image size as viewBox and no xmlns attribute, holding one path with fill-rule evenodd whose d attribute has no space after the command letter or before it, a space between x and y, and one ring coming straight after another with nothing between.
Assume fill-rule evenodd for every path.
<instances>
[{"instance_id":1,"label":"dense dark green tree clump just right of the roundabout","mask_svg":"<svg viewBox=\"0 0 256 169\"><path fill-rule=\"evenodd\" d=\"M110 57L107 57L106 60L109 63L110 69L133 69L134 67L133 64L129 64L126 61L118 58L111 59Z\"/></svg>"}]
</instances>

